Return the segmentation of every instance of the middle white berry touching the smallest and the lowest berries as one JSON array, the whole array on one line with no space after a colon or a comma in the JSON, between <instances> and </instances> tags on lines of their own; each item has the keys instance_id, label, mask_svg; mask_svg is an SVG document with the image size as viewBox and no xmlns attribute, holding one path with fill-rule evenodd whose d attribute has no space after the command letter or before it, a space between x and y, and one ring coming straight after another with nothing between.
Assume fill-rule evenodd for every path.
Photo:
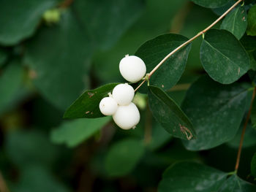
<instances>
[{"instance_id":1,"label":"middle white berry touching the smallest and the lowest berries","mask_svg":"<svg viewBox=\"0 0 256 192\"><path fill-rule=\"evenodd\" d=\"M128 83L118 84L113 89L112 96L118 105L127 105L132 102L132 99L135 96L135 91Z\"/></svg>"}]
</instances>

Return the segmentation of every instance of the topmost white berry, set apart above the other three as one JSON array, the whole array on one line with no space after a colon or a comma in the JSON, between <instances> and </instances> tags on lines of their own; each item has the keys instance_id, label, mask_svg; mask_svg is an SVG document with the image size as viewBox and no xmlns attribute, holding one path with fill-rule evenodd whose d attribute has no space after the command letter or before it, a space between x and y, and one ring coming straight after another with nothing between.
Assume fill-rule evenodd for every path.
<instances>
[{"instance_id":1,"label":"topmost white berry, set apart above the other three","mask_svg":"<svg viewBox=\"0 0 256 192\"><path fill-rule=\"evenodd\" d=\"M146 65L141 58L135 55L126 55L120 61L119 70L125 80L138 82L146 74Z\"/></svg>"}]
</instances>

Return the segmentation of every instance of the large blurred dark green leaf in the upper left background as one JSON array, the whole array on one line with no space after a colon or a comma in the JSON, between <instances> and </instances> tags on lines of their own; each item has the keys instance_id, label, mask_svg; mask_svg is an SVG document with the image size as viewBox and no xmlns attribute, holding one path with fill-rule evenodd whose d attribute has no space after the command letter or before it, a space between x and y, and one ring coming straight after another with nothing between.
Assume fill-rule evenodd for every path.
<instances>
[{"instance_id":1,"label":"large blurred dark green leaf in the upper left background","mask_svg":"<svg viewBox=\"0 0 256 192\"><path fill-rule=\"evenodd\" d=\"M42 96L65 110L89 88L91 52L88 34L66 10L58 25L42 28L28 43L25 62Z\"/></svg>"}]
</instances>

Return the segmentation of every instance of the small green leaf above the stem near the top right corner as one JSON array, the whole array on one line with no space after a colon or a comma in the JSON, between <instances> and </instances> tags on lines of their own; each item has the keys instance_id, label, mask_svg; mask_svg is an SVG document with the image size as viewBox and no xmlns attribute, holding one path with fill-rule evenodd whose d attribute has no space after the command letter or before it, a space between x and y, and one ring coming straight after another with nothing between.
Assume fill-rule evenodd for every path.
<instances>
[{"instance_id":1,"label":"small green leaf above the stem near the top right corner","mask_svg":"<svg viewBox=\"0 0 256 192\"><path fill-rule=\"evenodd\" d=\"M243 37L247 27L247 15L244 7L237 7L222 21L221 29L230 31L237 39Z\"/></svg>"}]
</instances>

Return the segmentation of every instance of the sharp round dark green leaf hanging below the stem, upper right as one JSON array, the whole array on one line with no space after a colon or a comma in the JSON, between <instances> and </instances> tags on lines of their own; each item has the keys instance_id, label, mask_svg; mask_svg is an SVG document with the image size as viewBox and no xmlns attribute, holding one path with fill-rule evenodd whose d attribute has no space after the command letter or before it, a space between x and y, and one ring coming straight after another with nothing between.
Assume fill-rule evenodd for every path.
<instances>
[{"instance_id":1,"label":"sharp round dark green leaf hanging below the stem, upper right","mask_svg":"<svg viewBox=\"0 0 256 192\"><path fill-rule=\"evenodd\" d=\"M249 68L249 56L228 31L211 29L200 47L200 61L210 77L222 84L238 80Z\"/></svg>"}]
</instances>

